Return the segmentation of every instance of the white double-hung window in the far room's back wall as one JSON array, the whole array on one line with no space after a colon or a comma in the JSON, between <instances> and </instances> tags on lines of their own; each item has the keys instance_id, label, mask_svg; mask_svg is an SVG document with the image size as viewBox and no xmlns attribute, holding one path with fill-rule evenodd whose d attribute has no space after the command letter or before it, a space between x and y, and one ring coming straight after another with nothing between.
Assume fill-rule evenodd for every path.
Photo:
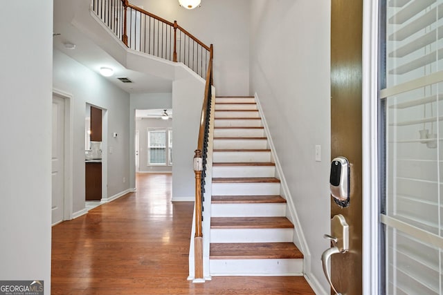
<instances>
[{"instance_id":1,"label":"white double-hung window in the far room's back wall","mask_svg":"<svg viewBox=\"0 0 443 295\"><path fill-rule=\"evenodd\" d=\"M147 165L172 165L172 130L147 129Z\"/></svg>"}]
</instances>

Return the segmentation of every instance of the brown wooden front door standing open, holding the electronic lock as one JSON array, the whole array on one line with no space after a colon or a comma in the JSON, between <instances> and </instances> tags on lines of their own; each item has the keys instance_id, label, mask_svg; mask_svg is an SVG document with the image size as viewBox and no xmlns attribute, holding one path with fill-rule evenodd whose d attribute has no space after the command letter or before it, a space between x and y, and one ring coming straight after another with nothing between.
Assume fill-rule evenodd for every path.
<instances>
[{"instance_id":1,"label":"brown wooden front door standing open, holding the electronic lock","mask_svg":"<svg viewBox=\"0 0 443 295\"><path fill-rule=\"evenodd\" d=\"M331 157L350 162L350 206L331 202L331 218L342 214L349 225L350 251L331 257L332 283L337 292L362 292L361 220L361 49L362 0L331 2Z\"/></svg>"}]
</instances>

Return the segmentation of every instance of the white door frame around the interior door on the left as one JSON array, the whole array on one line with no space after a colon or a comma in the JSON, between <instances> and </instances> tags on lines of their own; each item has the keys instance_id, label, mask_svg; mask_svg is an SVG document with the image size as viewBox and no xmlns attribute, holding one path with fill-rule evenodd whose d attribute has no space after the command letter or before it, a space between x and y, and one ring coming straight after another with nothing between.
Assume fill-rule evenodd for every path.
<instances>
[{"instance_id":1,"label":"white door frame around the interior door on the left","mask_svg":"<svg viewBox=\"0 0 443 295\"><path fill-rule=\"evenodd\" d=\"M53 88L53 95L64 101L64 207L63 220L72 219L73 203L73 95Z\"/></svg>"}]
</instances>

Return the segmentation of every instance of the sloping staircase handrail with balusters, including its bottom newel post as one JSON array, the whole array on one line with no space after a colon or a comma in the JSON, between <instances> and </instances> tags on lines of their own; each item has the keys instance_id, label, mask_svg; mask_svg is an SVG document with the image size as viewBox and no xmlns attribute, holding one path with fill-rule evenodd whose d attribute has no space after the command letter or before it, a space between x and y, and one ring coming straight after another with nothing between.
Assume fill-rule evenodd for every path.
<instances>
[{"instance_id":1,"label":"sloping staircase handrail with balusters, including its bottom newel post","mask_svg":"<svg viewBox=\"0 0 443 295\"><path fill-rule=\"evenodd\" d=\"M210 124L210 106L213 97L213 45L210 45L210 59L208 71L206 73L206 86L204 102L201 108L199 139L197 149L194 155L194 173L195 173L195 238L194 238L194 257L195 257L195 279L203 279L203 202L205 192L206 178L206 156L208 153L208 137Z\"/></svg>"}]
</instances>

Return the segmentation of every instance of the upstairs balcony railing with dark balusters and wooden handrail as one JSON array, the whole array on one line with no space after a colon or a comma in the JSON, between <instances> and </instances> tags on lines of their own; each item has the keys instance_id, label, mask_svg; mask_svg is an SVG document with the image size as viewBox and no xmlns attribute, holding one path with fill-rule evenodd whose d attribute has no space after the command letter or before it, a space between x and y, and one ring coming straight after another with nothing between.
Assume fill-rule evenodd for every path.
<instances>
[{"instance_id":1,"label":"upstairs balcony railing with dark balusters and wooden handrail","mask_svg":"<svg viewBox=\"0 0 443 295\"><path fill-rule=\"evenodd\" d=\"M128 0L92 0L92 10L127 47L174 62L183 62L206 79L210 46L190 32Z\"/></svg>"}]
</instances>

